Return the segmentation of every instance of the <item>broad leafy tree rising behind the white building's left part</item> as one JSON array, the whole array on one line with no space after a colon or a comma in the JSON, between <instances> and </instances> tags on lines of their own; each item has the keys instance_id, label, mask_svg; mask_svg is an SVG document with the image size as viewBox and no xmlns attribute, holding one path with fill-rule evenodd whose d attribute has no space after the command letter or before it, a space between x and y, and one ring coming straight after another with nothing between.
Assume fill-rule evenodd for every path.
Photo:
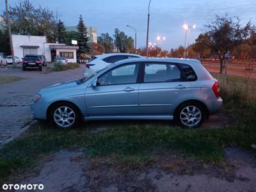
<instances>
[{"instance_id":1,"label":"broad leafy tree rising behind the white building's left part","mask_svg":"<svg viewBox=\"0 0 256 192\"><path fill-rule=\"evenodd\" d=\"M6 22L6 13L3 18ZM47 36L48 42L55 42L56 22L48 8L35 8L29 0L10 6L9 15L13 34Z\"/></svg>"}]
</instances>

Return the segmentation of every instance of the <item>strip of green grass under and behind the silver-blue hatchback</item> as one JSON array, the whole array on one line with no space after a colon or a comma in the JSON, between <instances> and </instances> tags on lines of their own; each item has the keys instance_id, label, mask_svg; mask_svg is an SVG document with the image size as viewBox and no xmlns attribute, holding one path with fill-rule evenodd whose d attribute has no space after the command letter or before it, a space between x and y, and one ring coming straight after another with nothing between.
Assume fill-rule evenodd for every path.
<instances>
[{"instance_id":1,"label":"strip of green grass under and behind the silver-blue hatchback","mask_svg":"<svg viewBox=\"0 0 256 192\"><path fill-rule=\"evenodd\" d=\"M233 81L233 77L228 77L226 87L232 86ZM240 83L243 85L246 81L242 79ZM236 124L221 129L181 129L161 122L136 124L127 121L125 124L116 122L105 131L93 133L86 124L61 130L39 122L0 150L0 183L30 170L40 157L62 148L83 148L87 157L129 169L141 168L166 151L175 152L182 159L223 164L223 147L252 149L251 145L256 143L256 100L246 100L238 92L222 91L225 107Z\"/></svg>"}]
</instances>

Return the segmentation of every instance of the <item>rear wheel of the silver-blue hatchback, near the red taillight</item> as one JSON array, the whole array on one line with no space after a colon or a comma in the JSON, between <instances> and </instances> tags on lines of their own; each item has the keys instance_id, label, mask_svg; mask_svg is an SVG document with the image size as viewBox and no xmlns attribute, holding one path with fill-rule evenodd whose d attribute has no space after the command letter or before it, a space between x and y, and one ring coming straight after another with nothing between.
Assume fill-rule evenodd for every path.
<instances>
[{"instance_id":1,"label":"rear wheel of the silver-blue hatchback, near the red taillight","mask_svg":"<svg viewBox=\"0 0 256 192\"><path fill-rule=\"evenodd\" d=\"M187 129L194 129L202 125L205 120L205 109L196 102L186 102L175 111L174 120Z\"/></svg>"}]
</instances>

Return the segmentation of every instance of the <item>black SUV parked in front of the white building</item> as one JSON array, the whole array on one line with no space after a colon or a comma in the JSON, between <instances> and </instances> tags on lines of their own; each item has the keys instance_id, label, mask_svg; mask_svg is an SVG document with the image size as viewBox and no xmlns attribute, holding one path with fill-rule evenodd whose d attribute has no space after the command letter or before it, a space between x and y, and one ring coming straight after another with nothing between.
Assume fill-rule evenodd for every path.
<instances>
[{"instance_id":1,"label":"black SUV parked in front of the white building","mask_svg":"<svg viewBox=\"0 0 256 192\"><path fill-rule=\"evenodd\" d=\"M42 60L38 54L27 54L22 61L22 70L27 68L38 68L42 71Z\"/></svg>"}]
</instances>

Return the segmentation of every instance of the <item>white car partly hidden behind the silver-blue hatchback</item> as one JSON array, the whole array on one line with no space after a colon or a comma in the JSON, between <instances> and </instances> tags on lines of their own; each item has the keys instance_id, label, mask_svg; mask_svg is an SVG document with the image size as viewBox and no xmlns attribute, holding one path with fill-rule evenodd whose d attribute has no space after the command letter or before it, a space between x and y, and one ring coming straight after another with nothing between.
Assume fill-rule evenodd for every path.
<instances>
[{"instance_id":1,"label":"white car partly hidden behind the silver-blue hatchback","mask_svg":"<svg viewBox=\"0 0 256 192\"><path fill-rule=\"evenodd\" d=\"M111 63L130 58L143 58L143 56L127 53L108 53L92 56L91 60L85 64L84 77L92 76L92 74L101 70L102 68L105 68Z\"/></svg>"}]
</instances>

